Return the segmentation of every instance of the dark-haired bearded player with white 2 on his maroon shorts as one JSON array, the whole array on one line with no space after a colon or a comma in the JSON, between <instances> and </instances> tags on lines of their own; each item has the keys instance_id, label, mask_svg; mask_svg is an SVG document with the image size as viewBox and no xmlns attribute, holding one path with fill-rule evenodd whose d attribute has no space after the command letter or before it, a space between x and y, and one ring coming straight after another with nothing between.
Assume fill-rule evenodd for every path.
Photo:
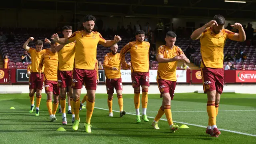
<instances>
[{"instance_id":1,"label":"dark-haired bearded player with white 2 on his maroon shorts","mask_svg":"<svg viewBox=\"0 0 256 144\"><path fill-rule=\"evenodd\" d=\"M142 119L144 122L148 122L146 110L148 105L150 44L149 42L145 42L144 38L145 32L138 30L136 32L136 41L126 44L120 52L122 67L124 69L131 67L137 123L140 123L140 86L142 87ZM130 65L124 59L126 52L130 52L131 54L132 60Z\"/></svg>"}]
</instances>

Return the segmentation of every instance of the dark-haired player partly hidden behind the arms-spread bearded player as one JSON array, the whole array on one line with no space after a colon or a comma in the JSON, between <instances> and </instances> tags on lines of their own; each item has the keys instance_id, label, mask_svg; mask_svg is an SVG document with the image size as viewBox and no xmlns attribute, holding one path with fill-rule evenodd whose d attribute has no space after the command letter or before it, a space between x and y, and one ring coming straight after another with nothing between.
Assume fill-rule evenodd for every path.
<instances>
[{"instance_id":1,"label":"dark-haired player partly hidden behind the arms-spread bearded player","mask_svg":"<svg viewBox=\"0 0 256 144\"><path fill-rule=\"evenodd\" d=\"M62 28L64 38L68 38L72 34L72 26L64 26ZM62 109L62 124L67 124L66 118L66 92L68 89L70 97L70 103L72 107L72 96L73 90L71 88L72 82L72 72L73 72L73 65L74 65L74 58L75 58L75 42L71 42L69 44L63 45L58 44L56 51L58 52L59 56L59 66L58 66L58 82L60 86L60 105ZM67 88L68 87L68 88ZM68 111L72 108L68 106ZM75 114L72 110L72 123L75 121Z\"/></svg>"}]
</instances>

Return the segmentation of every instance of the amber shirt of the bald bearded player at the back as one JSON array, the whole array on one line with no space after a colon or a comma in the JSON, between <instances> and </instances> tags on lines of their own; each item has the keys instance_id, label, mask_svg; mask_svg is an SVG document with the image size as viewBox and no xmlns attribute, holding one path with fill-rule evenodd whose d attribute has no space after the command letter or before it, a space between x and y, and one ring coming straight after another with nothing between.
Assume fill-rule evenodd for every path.
<instances>
[{"instance_id":1,"label":"amber shirt of the bald bearded player at the back","mask_svg":"<svg viewBox=\"0 0 256 144\"><path fill-rule=\"evenodd\" d=\"M108 57L108 66L116 67L118 69L118 71L116 71L116 70L104 68L106 78L120 78L121 77L121 73L120 73L120 70L121 70L120 53L116 53L114 55L110 52L110 53L106 54L106 56Z\"/></svg>"}]
</instances>

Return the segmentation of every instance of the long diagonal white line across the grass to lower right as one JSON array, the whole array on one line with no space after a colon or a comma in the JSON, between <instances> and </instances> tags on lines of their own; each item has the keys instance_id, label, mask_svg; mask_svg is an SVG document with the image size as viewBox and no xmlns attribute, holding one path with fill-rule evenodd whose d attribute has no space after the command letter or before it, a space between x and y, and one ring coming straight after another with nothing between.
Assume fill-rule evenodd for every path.
<instances>
[{"instance_id":1,"label":"long diagonal white line across the grass to lower right","mask_svg":"<svg viewBox=\"0 0 256 144\"><path fill-rule=\"evenodd\" d=\"M98 108L98 107L94 107L96 109L100 109L100 110L108 110L106 108ZM119 112L120 111L117 111L117 110L112 110L113 112ZM134 115L136 116L136 114L132 114L132 113L129 113L129 112L126 112L126 114L130 114L130 115ZM148 118L153 118L154 117L151 117L151 116L148 116ZM160 118L160 120L164 120L164 121L167 121L166 119L162 119ZM173 122L177 122L177 121L173 121ZM177 122L177 123L180 123L180 124L186 124L186 125L190 125L190 126L197 126L197 127L200 127L200 128L206 128L206 126L202 126L202 125L198 125L198 124L189 124L189 123L186 123L186 122ZM242 134L242 135L246 135L246 136L255 136L254 134L247 134L247 133L244 133L244 132L236 132L236 131L233 131L233 130L225 130L225 129L222 129L222 128L218 128L219 130L222 130L222 131L225 131L225 132L232 132L232 133L235 133L235 134Z\"/></svg>"}]
</instances>

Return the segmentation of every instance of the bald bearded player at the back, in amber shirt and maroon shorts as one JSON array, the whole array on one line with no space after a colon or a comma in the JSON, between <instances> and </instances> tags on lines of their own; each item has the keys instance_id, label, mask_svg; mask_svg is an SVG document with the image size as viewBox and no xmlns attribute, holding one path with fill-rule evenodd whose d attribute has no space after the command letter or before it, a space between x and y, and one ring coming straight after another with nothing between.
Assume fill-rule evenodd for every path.
<instances>
[{"instance_id":1,"label":"bald bearded player at the back, in amber shirt and maroon shorts","mask_svg":"<svg viewBox=\"0 0 256 144\"><path fill-rule=\"evenodd\" d=\"M106 54L104 58L104 70L106 75L106 87L108 94L108 116L113 117L112 102L114 88L118 98L118 105L120 110L120 117L124 116L126 112L123 110L124 101L122 97L122 78L121 78L121 58L120 54L117 53L118 45L114 44L110 47L111 52Z\"/></svg>"}]
</instances>

